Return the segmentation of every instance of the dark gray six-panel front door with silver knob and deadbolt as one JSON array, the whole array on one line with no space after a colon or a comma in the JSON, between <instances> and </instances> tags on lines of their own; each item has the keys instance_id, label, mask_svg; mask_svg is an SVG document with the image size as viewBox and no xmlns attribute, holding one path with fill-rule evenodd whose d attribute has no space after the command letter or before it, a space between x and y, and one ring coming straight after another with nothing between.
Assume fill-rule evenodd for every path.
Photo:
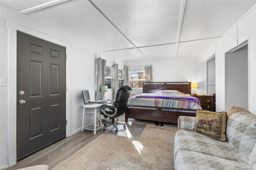
<instances>
[{"instance_id":1,"label":"dark gray six-panel front door with silver knob and deadbolt","mask_svg":"<svg viewBox=\"0 0 256 170\"><path fill-rule=\"evenodd\" d=\"M17 160L66 137L66 48L17 31Z\"/></svg>"}]
</instances>

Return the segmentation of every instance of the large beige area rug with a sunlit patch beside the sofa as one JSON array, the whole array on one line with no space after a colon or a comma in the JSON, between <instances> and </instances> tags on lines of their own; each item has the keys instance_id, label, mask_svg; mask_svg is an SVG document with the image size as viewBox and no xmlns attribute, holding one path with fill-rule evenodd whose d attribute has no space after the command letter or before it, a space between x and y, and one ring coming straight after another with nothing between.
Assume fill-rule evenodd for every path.
<instances>
[{"instance_id":1,"label":"large beige area rug with a sunlit patch beside the sofa","mask_svg":"<svg viewBox=\"0 0 256 170\"><path fill-rule=\"evenodd\" d=\"M176 130L147 125L138 139L103 133L55 170L174 169Z\"/></svg>"}]
</instances>

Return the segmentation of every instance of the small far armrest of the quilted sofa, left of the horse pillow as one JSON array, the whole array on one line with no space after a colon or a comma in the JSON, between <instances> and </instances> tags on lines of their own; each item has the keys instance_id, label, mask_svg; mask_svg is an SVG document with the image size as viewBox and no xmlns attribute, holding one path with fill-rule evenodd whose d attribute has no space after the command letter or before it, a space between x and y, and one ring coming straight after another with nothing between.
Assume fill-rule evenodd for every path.
<instances>
[{"instance_id":1,"label":"small far armrest of the quilted sofa, left of the horse pillow","mask_svg":"<svg viewBox=\"0 0 256 170\"><path fill-rule=\"evenodd\" d=\"M193 131L196 125L196 117L180 116L178 119L178 131Z\"/></svg>"}]
</instances>

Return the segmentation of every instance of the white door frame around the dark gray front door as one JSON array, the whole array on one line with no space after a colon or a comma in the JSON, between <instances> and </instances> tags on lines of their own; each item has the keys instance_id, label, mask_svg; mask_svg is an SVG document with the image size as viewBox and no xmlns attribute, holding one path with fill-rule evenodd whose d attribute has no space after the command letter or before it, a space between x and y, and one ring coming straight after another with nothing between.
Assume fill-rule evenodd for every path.
<instances>
[{"instance_id":1,"label":"white door frame around the dark gray front door","mask_svg":"<svg viewBox=\"0 0 256 170\"><path fill-rule=\"evenodd\" d=\"M70 44L50 37L44 33L24 27L12 21L7 21L8 27L8 165L16 164L17 159L17 31L21 31L66 47L66 55L71 56ZM63 39L63 37L62 37ZM71 62L66 60L66 87L69 88L71 78ZM70 136L70 90L66 92L66 137Z\"/></svg>"}]
</instances>

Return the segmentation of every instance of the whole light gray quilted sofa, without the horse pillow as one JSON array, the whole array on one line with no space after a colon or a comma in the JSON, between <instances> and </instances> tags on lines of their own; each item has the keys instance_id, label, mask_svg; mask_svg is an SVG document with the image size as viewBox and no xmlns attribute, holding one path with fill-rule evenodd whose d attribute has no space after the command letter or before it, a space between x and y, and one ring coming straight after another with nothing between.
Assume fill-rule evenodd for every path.
<instances>
[{"instance_id":1,"label":"whole light gray quilted sofa, without the horse pillow","mask_svg":"<svg viewBox=\"0 0 256 170\"><path fill-rule=\"evenodd\" d=\"M231 115L227 142L193 132L195 124L196 117L179 117L174 139L176 170L256 170L256 115Z\"/></svg>"}]
</instances>

